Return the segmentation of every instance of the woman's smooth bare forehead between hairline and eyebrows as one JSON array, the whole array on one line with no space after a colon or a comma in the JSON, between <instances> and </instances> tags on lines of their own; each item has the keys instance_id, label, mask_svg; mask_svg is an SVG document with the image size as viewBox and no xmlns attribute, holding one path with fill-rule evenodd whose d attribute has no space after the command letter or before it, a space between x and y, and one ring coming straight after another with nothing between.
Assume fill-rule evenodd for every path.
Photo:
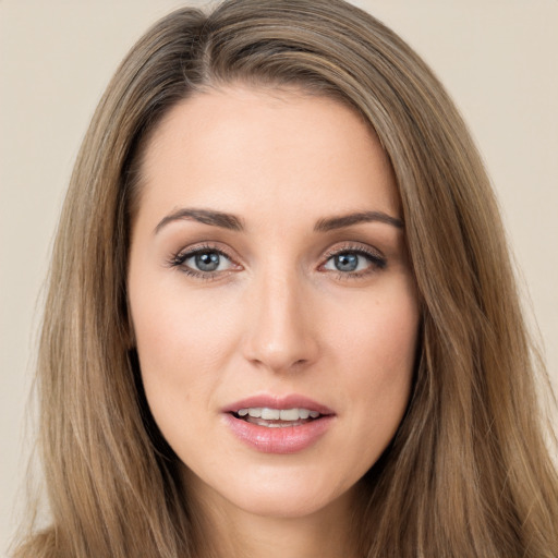
<instances>
[{"instance_id":1,"label":"woman's smooth bare forehead between hairline and eyebrows","mask_svg":"<svg viewBox=\"0 0 558 558\"><path fill-rule=\"evenodd\" d=\"M149 138L140 213L181 205L256 217L399 213L376 134L348 106L299 90L230 87L174 106ZM283 215L283 216L284 216Z\"/></svg>"}]
</instances>

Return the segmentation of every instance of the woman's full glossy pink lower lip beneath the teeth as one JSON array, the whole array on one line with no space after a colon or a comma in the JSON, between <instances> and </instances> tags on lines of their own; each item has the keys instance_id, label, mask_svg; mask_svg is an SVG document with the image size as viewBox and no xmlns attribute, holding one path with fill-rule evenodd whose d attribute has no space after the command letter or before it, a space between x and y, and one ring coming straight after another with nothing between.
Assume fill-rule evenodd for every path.
<instances>
[{"instance_id":1,"label":"woman's full glossy pink lower lip beneath the teeth","mask_svg":"<svg viewBox=\"0 0 558 558\"><path fill-rule=\"evenodd\" d=\"M296 453L313 446L329 428L333 416L322 416L299 426L268 428L225 414L232 433L263 453Z\"/></svg>"}]
</instances>

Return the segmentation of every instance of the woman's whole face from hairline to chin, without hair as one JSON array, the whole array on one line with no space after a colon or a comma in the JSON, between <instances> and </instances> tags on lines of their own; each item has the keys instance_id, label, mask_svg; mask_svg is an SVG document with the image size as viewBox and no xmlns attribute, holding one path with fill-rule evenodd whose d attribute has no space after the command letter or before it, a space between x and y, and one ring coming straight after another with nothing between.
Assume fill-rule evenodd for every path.
<instances>
[{"instance_id":1,"label":"woman's whole face from hairline to chin, without hair","mask_svg":"<svg viewBox=\"0 0 558 558\"><path fill-rule=\"evenodd\" d=\"M351 109L230 87L145 151L129 300L153 416L205 502L302 517L405 410L418 325L398 194Z\"/></svg>"}]
</instances>

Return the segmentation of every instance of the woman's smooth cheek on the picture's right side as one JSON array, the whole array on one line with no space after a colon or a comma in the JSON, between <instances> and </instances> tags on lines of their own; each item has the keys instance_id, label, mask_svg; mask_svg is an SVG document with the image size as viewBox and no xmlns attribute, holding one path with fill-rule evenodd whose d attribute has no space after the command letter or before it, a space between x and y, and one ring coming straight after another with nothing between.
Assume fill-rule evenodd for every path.
<instances>
[{"instance_id":1,"label":"woman's smooth cheek on the picture's right side","mask_svg":"<svg viewBox=\"0 0 558 558\"><path fill-rule=\"evenodd\" d=\"M381 454L405 412L416 355L420 313L414 290L388 290L331 320L338 369L344 383L348 444L363 472ZM350 326L348 324L351 324Z\"/></svg>"}]
</instances>

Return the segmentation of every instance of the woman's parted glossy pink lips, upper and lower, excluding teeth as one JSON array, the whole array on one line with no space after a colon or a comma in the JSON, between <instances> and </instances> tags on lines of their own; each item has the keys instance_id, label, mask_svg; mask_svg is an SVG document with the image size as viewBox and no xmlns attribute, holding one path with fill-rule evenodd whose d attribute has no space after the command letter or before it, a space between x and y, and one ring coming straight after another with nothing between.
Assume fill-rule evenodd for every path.
<instances>
[{"instance_id":1,"label":"woman's parted glossy pink lips, upper and lower, excluding teeth","mask_svg":"<svg viewBox=\"0 0 558 558\"><path fill-rule=\"evenodd\" d=\"M268 428L238 418L232 413L247 408L307 409L322 414L296 426ZM250 448L262 453L296 453L316 444L332 425L336 413L326 405L303 396L254 396L236 401L222 410L225 424L230 432Z\"/></svg>"}]
</instances>

